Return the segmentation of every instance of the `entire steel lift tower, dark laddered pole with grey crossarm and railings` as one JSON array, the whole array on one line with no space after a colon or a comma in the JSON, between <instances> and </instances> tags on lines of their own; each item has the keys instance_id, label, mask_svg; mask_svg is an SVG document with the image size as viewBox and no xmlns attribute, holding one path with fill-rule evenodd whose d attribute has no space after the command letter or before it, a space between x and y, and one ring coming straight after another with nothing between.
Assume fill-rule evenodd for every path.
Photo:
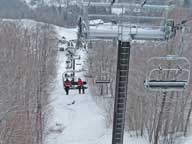
<instances>
[{"instance_id":1,"label":"entire steel lift tower, dark laddered pole with grey crossarm and railings","mask_svg":"<svg viewBox=\"0 0 192 144\"><path fill-rule=\"evenodd\" d=\"M78 23L78 36L81 39L116 39L118 41L112 144L123 144L131 48L130 42L132 40L165 41L174 36L173 21L168 20L166 15L162 17L139 16L139 19L145 19L159 23L162 21L164 22L163 25L146 27L136 23L135 21L132 21L131 23L130 19L137 19L137 16L128 15L128 10L130 8L147 8L151 10L165 12L168 11L171 6L141 6L140 4L129 3L114 3L111 6L111 3L107 2L90 1L82 3L81 6L84 10L83 17L79 19ZM116 13L117 11L118 13Z\"/></svg>"}]
</instances>

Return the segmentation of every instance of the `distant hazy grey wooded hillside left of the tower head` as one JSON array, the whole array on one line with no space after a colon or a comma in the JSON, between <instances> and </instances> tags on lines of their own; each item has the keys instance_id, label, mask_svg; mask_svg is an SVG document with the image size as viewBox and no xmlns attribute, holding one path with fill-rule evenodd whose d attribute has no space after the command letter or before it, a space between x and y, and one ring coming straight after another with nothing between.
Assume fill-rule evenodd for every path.
<instances>
[{"instance_id":1,"label":"distant hazy grey wooded hillside left of the tower head","mask_svg":"<svg viewBox=\"0 0 192 144\"><path fill-rule=\"evenodd\" d=\"M31 6L36 4L36 7L31 8L27 3L20 0L1 0L0 18L34 19L58 26L76 27L81 12L80 8L76 4L70 4L69 1L65 5L61 1L57 3L57 5L46 5L41 0L35 0L31 1Z\"/></svg>"}]
</instances>

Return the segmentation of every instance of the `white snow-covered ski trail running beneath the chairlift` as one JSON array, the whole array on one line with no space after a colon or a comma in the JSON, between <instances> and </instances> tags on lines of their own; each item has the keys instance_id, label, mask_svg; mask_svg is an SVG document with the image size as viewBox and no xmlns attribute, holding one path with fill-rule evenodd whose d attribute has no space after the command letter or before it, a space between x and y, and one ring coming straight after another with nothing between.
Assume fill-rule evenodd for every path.
<instances>
[{"instance_id":1,"label":"white snow-covered ski trail running beneath the chairlift","mask_svg":"<svg viewBox=\"0 0 192 144\"><path fill-rule=\"evenodd\" d=\"M76 70L82 69L86 58L86 52L78 50L81 59L77 60ZM50 128L61 127L58 133L48 132L46 144L96 144L98 139L105 134L105 120L101 111L93 101L89 89L85 94L78 94L78 90L70 90L65 95L62 83L62 73L65 69L65 53L58 54L57 78L54 82L54 90L51 93L51 111L48 123ZM76 77L83 78L83 73L77 73ZM51 101L50 100L50 101ZM72 101L75 104L68 105ZM58 128L59 129L59 128Z\"/></svg>"}]
</instances>

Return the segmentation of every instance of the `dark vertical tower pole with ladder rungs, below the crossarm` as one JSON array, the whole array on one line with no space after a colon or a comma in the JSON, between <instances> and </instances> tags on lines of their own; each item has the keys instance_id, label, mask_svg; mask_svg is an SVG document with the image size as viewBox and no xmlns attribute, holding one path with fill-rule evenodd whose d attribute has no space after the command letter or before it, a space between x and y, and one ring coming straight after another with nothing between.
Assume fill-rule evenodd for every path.
<instances>
[{"instance_id":1,"label":"dark vertical tower pole with ladder rungs, below the crossarm","mask_svg":"<svg viewBox=\"0 0 192 144\"><path fill-rule=\"evenodd\" d=\"M118 41L116 93L113 118L112 144L122 144L127 102L130 42Z\"/></svg>"}]
</instances>

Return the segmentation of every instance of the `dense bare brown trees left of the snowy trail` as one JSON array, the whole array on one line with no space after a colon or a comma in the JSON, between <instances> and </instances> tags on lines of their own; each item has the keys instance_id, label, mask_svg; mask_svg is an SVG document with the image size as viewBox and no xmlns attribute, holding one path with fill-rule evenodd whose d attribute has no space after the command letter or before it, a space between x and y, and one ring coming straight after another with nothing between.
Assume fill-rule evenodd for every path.
<instances>
[{"instance_id":1,"label":"dense bare brown trees left of the snowy trail","mask_svg":"<svg viewBox=\"0 0 192 144\"><path fill-rule=\"evenodd\" d=\"M0 143L42 144L56 40L48 24L0 21Z\"/></svg>"}]
</instances>

